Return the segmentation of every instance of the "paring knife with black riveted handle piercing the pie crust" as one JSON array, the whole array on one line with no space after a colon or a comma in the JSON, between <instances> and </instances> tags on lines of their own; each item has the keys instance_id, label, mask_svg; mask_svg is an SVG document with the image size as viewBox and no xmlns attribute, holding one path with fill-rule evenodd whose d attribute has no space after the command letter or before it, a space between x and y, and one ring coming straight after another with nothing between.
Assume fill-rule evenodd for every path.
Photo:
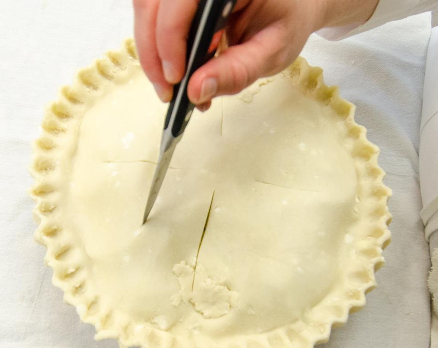
<instances>
[{"instance_id":1,"label":"paring knife with black riveted handle piercing the pie crust","mask_svg":"<svg viewBox=\"0 0 438 348\"><path fill-rule=\"evenodd\" d=\"M236 1L201 0L198 4L187 39L186 73L181 82L173 87L173 98L167 109L158 163L149 190L143 223L151 212L173 152L181 140L195 106L187 97L187 84L192 74L215 55L226 21Z\"/></svg>"}]
</instances>

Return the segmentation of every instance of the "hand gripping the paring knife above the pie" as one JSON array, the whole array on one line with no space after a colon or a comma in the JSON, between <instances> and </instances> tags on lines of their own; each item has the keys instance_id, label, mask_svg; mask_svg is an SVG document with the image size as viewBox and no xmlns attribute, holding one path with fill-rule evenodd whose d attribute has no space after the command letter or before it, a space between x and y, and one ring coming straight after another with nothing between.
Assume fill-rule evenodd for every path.
<instances>
[{"instance_id":1,"label":"hand gripping the paring knife above the pie","mask_svg":"<svg viewBox=\"0 0 438 348\"><path fill-rule=\"evenodd\" d=\"M133 0L141 66L163 102L184 75L187 35L197 0ZM204 111L285 69L309 35L325 26L366 21L378 0L238 0L226 27L229 47L192 75L187 94Z\"/></svg>"}]
</instances>

